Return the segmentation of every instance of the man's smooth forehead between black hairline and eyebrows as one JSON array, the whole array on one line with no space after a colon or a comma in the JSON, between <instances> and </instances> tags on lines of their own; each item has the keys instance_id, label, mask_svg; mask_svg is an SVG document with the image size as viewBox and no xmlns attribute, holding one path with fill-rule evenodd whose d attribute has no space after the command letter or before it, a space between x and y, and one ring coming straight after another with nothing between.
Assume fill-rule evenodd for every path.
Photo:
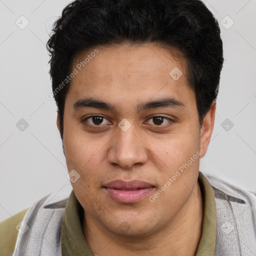
<instances>
[{"instance_id":1,"label":"man's smooth forehead between black hairline and eyebrows","mask_svg":"<svg viewBox=\"0 0 256 256\"><path fill-rule=\"evenodd\" d=\"M157 45L97 46L78 54L73 69L77 74L67 93L72 101L93 97L118 105L163 96L194 100L185 61Z\"/></svg>"}]
</instances>

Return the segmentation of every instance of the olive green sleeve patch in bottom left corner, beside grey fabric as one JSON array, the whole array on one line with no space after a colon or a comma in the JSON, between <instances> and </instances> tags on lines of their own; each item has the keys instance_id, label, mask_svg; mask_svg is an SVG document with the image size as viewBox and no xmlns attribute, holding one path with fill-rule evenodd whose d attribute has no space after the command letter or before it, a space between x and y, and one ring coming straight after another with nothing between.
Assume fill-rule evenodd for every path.
<instances>
[{"instance_id":1,"label":"olive green sleeve patch in bottom left corner, beside grey fabric","mask_svg":"<svg viewBox=\"0 0 256 256\"><path fill-rule=\"evenodd\" d=\"M29 209L23 209L13 215L0 221L0 255L9 256L12 255L15 243L18 236L18 224L22 221L25 213Z\"/></svg>"}]
</instances>

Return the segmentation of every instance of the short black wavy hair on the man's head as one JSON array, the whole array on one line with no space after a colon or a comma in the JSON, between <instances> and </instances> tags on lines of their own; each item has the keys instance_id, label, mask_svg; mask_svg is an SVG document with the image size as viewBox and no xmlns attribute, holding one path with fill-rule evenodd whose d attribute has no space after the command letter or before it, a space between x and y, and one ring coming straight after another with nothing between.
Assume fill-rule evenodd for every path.
<instances>
[{"instance_id":1,"label":"short black wavy hair on the man's head","mask_svg":"<svg viewBox=\"0 0 256 256\"><path fill-rule=\"evenodd\" d=\"M61 138L70 82L61 90L58 86L70 73L75 56L97 45L123 42L159 43L182 53L201 125L217 97L223 64L217 19L201 0L75 0L54 22L47 42Z\"/></svg>"}]
</instances>

